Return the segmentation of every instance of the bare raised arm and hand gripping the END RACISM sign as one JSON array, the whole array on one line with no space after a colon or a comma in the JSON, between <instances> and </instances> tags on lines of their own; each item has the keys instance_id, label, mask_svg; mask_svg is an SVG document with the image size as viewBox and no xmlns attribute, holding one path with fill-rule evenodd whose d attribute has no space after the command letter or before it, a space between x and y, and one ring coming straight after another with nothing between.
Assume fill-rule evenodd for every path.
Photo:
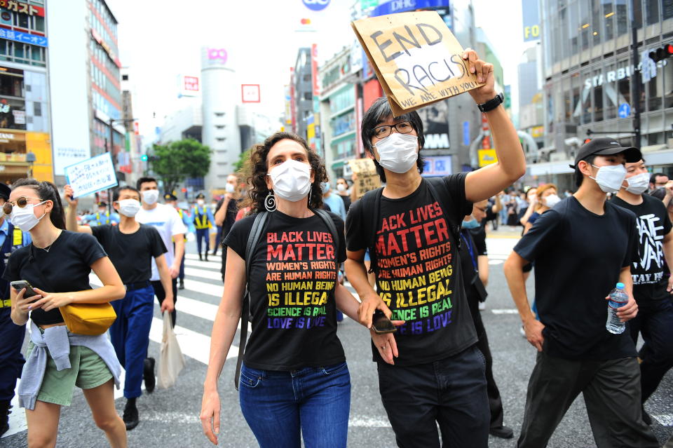
<instances>
[{"instance_id":1,"label":"bare raised arm and hand gripping the END RACISM sign","mask_svg":"<svg viewBox=\"0 0 673 448\"><path fill-rule=\"evenodd\" d=\"M477 104L496 97L493 65L477 58L475 50L470 48L463 53L468 61L470 72L477 74L477 81L486 84L470 90ZM483 201L510 186L526 172L526 158L519 142L517 130L503 104L485 113L491 128L498 161L479 170L468 173L465 178L465 198L471 202Z\"/></svg>"}]
</instances>

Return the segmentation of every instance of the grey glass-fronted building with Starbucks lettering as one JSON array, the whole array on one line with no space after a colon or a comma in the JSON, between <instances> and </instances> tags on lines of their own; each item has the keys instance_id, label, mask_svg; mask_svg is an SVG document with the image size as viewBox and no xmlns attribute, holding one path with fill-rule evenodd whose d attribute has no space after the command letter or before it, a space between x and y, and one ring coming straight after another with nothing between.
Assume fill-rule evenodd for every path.
<instances>
[{"instance_id":1,"label":"grey glass-fronted building with Starbucks lettering","mask_svg":"<svg viewBox=\"0 0 673 448\"><path fill-rule=\"evenodd\" d=\"M545 135L541 163L530 165L529 175L574 188L569 161L585 139L606 135L640 147L652 170L673 175L673 60L648 57L673 42L673 1L542 0L540 6Z\"/></svg>"}]
</instances>

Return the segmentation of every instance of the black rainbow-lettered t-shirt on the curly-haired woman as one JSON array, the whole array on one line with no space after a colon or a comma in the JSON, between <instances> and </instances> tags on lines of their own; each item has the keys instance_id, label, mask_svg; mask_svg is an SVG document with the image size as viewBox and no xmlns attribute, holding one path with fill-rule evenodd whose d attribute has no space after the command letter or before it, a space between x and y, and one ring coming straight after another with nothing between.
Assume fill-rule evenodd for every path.
<instances>
[{"instance_id":1,"label":"black rainbow-lettered t-shirt on the curly-haired woman","mask_svg":"<svg viewBox=\"0 0 673 448\"><path fill-rule=\"evenodd\" d=\"M254 369L295 370L344 362L337 338L334 287L337 264L346 260L344 221L329 213L339 242L318 215L269 214L252 250L252 334L243 360ZM245 259L254 215L233 224L224 244ZM337 247L338 253L337 253Z\"/></svg>"}]
</instances>

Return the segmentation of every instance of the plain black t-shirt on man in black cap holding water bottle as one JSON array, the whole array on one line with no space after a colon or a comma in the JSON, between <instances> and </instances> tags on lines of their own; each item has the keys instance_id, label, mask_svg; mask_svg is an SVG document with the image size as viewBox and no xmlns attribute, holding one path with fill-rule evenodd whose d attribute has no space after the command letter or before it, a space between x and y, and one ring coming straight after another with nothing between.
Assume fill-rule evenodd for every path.
<instances>
[{"instance_id":1,"label":"plain black t-shirt on man in black cap holding water bottle","mask_svg":"<svg viewBox=\"0 0 673 448\"><path fill-rule=\"evenodd\" d=\"M635 356L628 331L605 329L605 297L637 257L634 214L606 203L595 215L571 196L539 217L514 247L535 262L535 301L545 352L568 359Z\"/></svg>"}]
</instances>

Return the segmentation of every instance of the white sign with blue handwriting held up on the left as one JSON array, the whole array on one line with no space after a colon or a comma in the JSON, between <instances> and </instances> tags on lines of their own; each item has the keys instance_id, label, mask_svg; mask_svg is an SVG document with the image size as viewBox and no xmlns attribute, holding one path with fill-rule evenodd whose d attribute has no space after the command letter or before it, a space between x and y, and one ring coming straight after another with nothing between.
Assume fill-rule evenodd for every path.
<instances>
[{"instance_id":1,"label":"white sign with blue handwriting held up on the left","mask_svg":"<svg viewBox=\"0 0 673 448\"><path fill-rule=\"evenodd\" d=\"M65 178L72 186L74 198L117 186L117 177L109 152L67 166Z\"/></svg>"}]
</instances>

